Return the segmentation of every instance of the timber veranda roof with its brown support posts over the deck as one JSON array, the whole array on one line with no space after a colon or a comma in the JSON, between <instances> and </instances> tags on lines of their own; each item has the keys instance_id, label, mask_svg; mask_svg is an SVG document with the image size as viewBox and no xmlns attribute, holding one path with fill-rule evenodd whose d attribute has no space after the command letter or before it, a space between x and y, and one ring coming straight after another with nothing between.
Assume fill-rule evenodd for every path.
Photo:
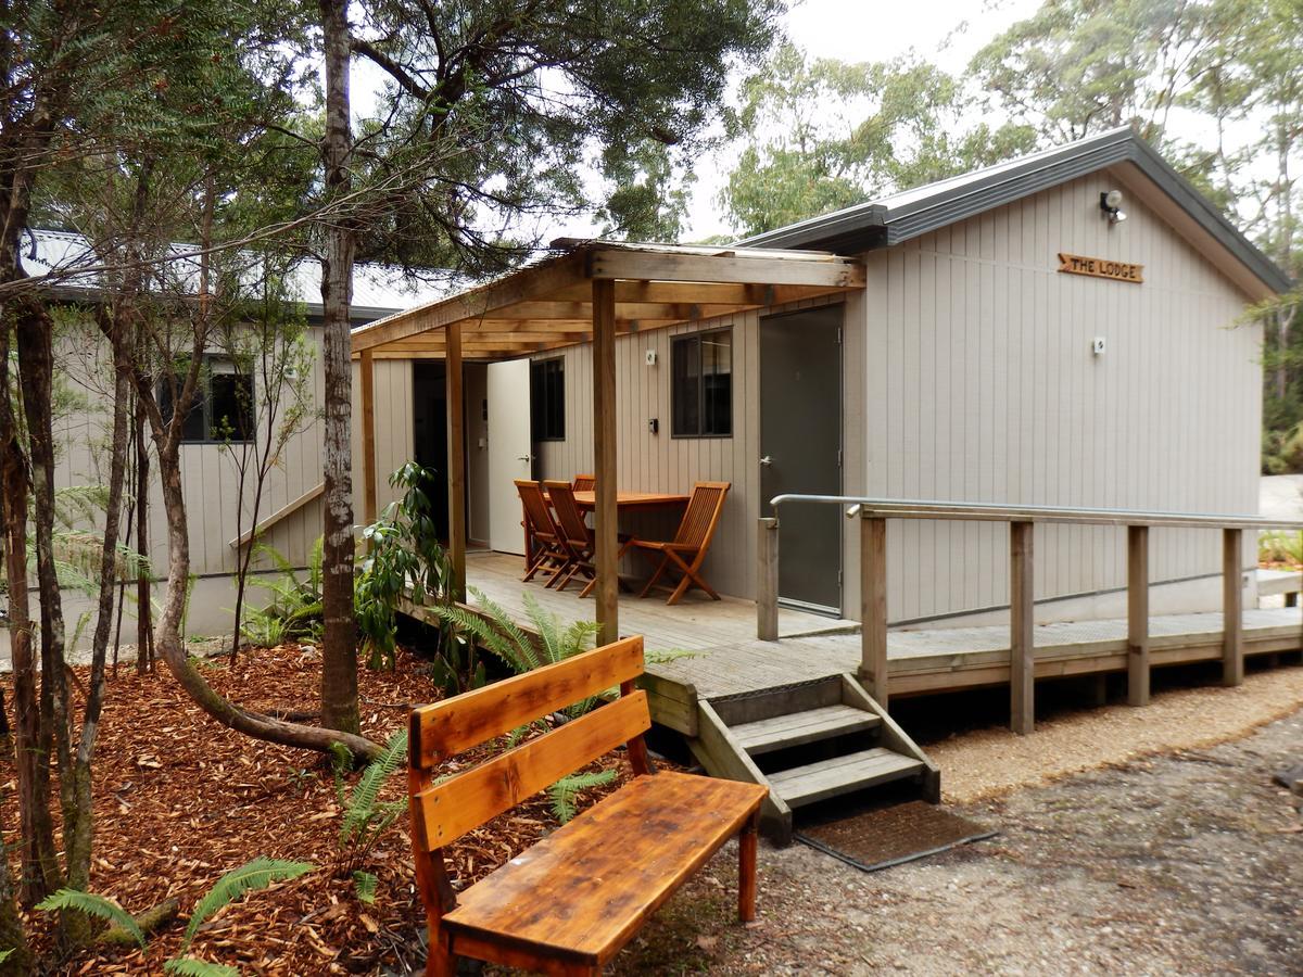
<instances>
[{"instance_id":1,"label":"timber veranda roof with its brown support posts over the deck","mask_svg":"<svg viewBox=\"0 0 1303 977\"><path fill-rule=\"evenodd\" d=\"M852 292L864 283L859 262L825 251L585 241L478 288L358 328L353 356L361 361L362 513L369 522L377 517L375 361L442 360L448 404L448 546L456 595L464 601L463 365L592 344L595 617L601 638L614 641L619 634L616 337Z\"/></svg>"}]
</instances>

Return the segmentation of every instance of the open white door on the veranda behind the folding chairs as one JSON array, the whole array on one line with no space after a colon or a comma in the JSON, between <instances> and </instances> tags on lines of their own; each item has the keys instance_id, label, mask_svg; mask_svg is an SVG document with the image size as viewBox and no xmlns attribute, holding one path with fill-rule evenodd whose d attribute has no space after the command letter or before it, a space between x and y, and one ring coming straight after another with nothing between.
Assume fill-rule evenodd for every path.
<instances>
[{"instance_id":1,"label":"open white door on the veranda behind the folding chairs","mask_svg":"<svg viewBox=\"0 0 1303 977\"><path fill-rule=\"evenodd\" d=\"M529 361L489 363L489 546L525 552L520 495L513 481L533 473L529 439Z\"/></svg>"}]
</instances>

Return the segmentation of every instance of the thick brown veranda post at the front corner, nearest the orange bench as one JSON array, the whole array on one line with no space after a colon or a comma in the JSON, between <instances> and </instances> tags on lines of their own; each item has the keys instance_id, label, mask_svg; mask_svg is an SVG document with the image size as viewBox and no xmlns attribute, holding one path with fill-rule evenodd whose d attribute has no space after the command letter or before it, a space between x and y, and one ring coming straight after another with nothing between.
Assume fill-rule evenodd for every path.
<instances>
[{"instance_id":1,"label":"thick brown veranda post at the front corner, nearest the orange bench","mask_svg":"<svg viewBox=\"0 0 1303 977\"><path fill-rule=\"evenodd\" d=\"M602 644L620 636L619 538L615 505L615 281L593 279L593 472L597 477L593 535L597 556L597 620Z\"/></svg>"}]
</instances>

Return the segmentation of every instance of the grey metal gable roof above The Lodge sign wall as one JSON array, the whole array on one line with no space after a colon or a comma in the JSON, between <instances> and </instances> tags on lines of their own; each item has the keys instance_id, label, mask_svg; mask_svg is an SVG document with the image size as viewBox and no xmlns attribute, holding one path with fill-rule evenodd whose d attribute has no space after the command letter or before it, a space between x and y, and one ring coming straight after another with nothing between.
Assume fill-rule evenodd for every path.
<instances>
[{"instance_id":1,"label":"grey metal gable roof above The Lodge sign wall","mask_svg":"<svg viewBox=\"0 0 1303 977\"><path fill-rule=\"evenodd\" d=\"M1293 281L1130 126L748 237L756 248L866 251L908 241L1108 167L1131 164L1272 292Z\"/></svg>"}]
</instances>

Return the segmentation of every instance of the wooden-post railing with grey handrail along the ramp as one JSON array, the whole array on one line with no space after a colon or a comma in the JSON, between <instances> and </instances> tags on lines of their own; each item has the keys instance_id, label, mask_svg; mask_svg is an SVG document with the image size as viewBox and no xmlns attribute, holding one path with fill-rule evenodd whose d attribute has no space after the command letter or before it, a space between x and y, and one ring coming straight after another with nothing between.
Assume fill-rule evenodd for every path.
<instances>
[{"instance_id":1,"label":"wooden-post railing with grey handrail along the ramp","mask_svg":"<svg viewBox=\"0 0 1303 977\"><path fill-rule=\"evenodd\" d=\"M887 533L889 518L1007 522L1010 547L1010 726L1033 729L1035 602L1032 590L1035 526L1074 524L1124 526L1127 530L1127 702L1149 701L1149 530L1216 529L1222 534L1222 683L1244 677L1243 534L1244 530L1303 530L1303 522L1261 516L1140 512L1135 509L1054 508L1049 505L989 505L962 502L861 499L840 495L779 495L770 504L846 507L860 520L860 679L886 706L887 681ZM756 636L778 640L778 517L760 520L760 567Z\"/></svg>"}]
</instances>

